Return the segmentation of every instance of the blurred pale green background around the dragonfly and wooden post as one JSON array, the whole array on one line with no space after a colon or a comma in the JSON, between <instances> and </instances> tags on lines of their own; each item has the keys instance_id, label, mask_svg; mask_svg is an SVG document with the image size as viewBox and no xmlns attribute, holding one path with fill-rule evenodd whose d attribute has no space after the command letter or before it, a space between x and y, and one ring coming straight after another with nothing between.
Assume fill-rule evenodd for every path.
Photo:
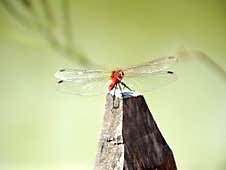
<instances>
[{"instance_id":1,"label":"blurred pale green background around the dragonfly and wooden post","mask_svg":"<svg viewBox=\"0 0 226 170\"><path fill-rule=\"evenodd\" d=\"M1 170L92 169L105 96L57 91L58 69L169 55L177 80L144 95L178 169L226 169L225 0L0 2Z\"/></svg>"}]
</instances>

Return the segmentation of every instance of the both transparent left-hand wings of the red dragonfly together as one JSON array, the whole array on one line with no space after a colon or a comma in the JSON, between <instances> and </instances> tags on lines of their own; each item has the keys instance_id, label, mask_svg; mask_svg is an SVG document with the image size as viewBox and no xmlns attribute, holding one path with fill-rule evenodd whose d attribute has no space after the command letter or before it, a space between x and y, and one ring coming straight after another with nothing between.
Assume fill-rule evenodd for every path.
<instances>
[{"instance_id":1,"label":"both transparent left-hand wings of the red dragonfly together","mask_svg":"<svg viewBox=\"0 0 226 170\"><path fill-rule=\"evenodd\" d=\"M108 76L109 73L96 69L62 69L55 73L60 91L79 95L104 94Z\"/></svg>"}]
</instances>

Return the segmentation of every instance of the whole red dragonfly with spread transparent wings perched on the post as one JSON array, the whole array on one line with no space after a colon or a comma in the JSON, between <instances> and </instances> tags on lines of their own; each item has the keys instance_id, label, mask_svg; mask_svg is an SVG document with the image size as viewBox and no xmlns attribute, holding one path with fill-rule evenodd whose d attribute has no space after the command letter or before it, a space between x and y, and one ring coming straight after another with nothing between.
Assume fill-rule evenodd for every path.
<instances>
[{"instance_id":1,"label":"whole red dragonfly with spread transparent wings perched on the post","mask_svg":"<svg viewBox=\"0 0 226 170\"><path fill-rule=\"evenodd\" d=\"M115 89L120 89L121 92L123 90L133 91L139 86L141 86L139 92L143 92L162 85L161 80L163 82L175 80L175 74L169 68L176 62L176 57L168 56L112 71L60 69L55 73L55 77L58 79L60 90L72 94L97 95ZM145 83L145 81L151 83ZM145 84L147 84L146 87Z\"/></svg>"}]
</instances>

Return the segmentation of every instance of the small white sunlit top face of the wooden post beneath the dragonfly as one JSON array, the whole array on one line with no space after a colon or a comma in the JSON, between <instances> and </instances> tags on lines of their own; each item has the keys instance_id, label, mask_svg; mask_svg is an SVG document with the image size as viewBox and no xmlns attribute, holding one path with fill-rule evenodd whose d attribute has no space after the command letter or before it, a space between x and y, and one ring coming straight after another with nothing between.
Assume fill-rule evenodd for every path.
<instances>
[{"instance_id":1,"label":"small white sunlit top face of the wooden post beneath the dragonfly","mask_svg":"<svg viewBox=\"0 0 226 170\"><path fill-rule=\"evenodd\" d=\"M114 92L114 90L111 90L107 94L118 97L120 99L143 96L142 93L136 93L134 91L127 91L127 90L120 91L119 89L116 89L115 92Z\"/></svg>"}]
</instances>

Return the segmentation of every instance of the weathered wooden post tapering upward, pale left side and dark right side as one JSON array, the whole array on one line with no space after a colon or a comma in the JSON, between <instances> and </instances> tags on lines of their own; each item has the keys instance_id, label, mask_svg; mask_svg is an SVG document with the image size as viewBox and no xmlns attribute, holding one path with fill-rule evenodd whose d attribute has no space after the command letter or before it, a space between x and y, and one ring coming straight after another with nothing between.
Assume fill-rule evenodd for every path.
<instances>
[{"instance_id":1,"label":"weathered wooden post tapering upward, pale left side and dark right side","mask_svg":"<svg viewBox=\"0 0 226 170\"><path fill-rule=\"evenodd\" d=\"M140 94L108 93L94 170L176 170L173 153Z\"/></svg>"}]
</instances>

